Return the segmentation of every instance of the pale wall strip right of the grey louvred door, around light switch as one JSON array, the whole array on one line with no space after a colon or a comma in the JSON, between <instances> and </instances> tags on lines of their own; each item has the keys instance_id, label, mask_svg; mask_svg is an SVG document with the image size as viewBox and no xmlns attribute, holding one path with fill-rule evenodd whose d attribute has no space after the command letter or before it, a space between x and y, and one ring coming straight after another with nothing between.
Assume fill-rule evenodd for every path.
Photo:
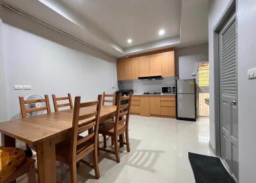
<instances>
[{"instance_id":1,"label":"pale wall strip right of the grey louvred door, around light switch","mask_svg":"<svg viewBox=\"0 0 256 183\"><path fill-rule=\"evenodd\" d=\"M238 0L238 118L239 176L241 183L256 182L256 80L247 70L256 67L256 1Z\"/></svg>"}]
</instances>

